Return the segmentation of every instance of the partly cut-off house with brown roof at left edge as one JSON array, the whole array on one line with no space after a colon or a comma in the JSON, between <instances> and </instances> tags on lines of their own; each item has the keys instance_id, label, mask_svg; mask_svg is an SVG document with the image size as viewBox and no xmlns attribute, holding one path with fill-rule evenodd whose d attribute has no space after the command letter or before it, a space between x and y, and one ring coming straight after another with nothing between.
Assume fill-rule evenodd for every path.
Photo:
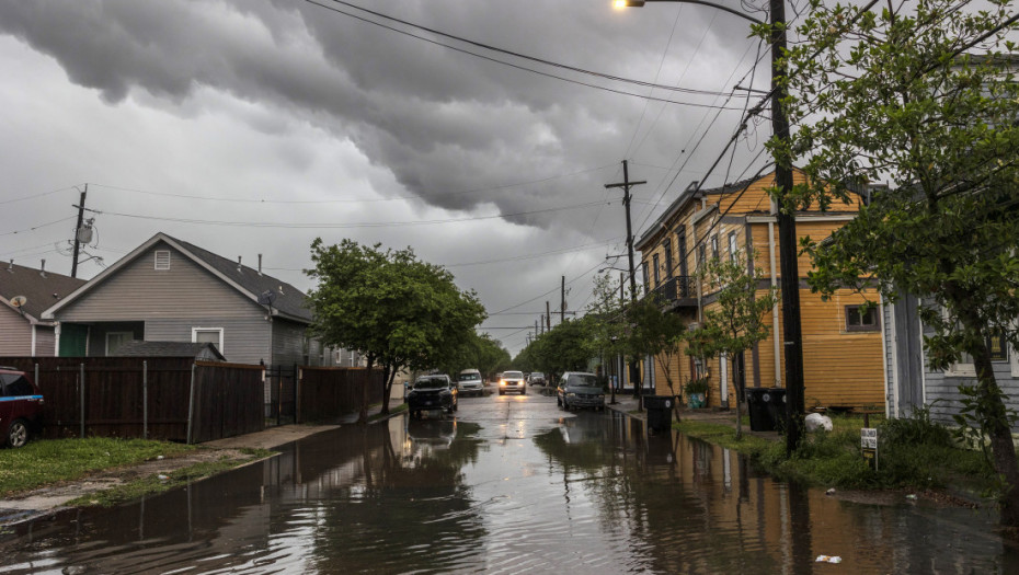
<instances>
[{"instance_id":1,"label":"partly cut-off house with brown roof at left edge","mask_svg":"<svg viewBox=\"0 0 1019 575\"><path fill-rule=\"evenodd\" d=\"M43 311L84 284L84 279L14 265L0 267L0 356L51 356L54 322Z\"/></svg>"}]
</instances>

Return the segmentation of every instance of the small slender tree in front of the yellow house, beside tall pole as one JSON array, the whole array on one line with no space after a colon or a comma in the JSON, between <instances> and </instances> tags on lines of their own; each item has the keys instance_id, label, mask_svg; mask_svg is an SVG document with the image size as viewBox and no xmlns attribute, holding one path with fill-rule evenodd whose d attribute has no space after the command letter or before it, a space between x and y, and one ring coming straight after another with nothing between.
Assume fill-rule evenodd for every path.
<instances>
[{"instance_id":1,"label":"small slender tree in front of the yellow house, beside tall pole","mask_svg":"<svg viewBox=\"0 0 1019 575\"><path fill-rule=\"evenodd\" d=\"M707 294L714 294L714 306L705 310L703 324L690 335L690 348L701 357L723 356L735 363L736 357L768 337L765 315L778 301L777 288L758 290L762 271L748 269L747 257L736 252L731 258L711 258L701 271ZM730 370L735 373L735 369ZM736 390L736 439L743 437L742 384Z\"/></svg>"}]
</instances>

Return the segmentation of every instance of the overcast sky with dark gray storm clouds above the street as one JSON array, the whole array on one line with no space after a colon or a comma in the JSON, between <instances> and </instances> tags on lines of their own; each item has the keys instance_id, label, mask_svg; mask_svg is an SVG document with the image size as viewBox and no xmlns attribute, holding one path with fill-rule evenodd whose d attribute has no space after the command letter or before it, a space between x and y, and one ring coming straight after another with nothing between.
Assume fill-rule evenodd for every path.
<instances>
[{"instance_id":1,"label":"overcast sky with dark gray storm clouds above the street","mask_svg":"<svg viewBox=\"0 0 1019 575\"><path fill-rule=\"evenodd\" d=\"M705 7L316 1L333 10L0 1L0 260L69 274L88 184L88 253L105 265L162 231L249 265L261 253L307 290L316 237L410 245L478 291L516 354L561 276L583 309L625 252L621 191L604 187L621 160L648 181L640 235L722 152L747 103L732 88L768 85L747 22ZM752 123L708 183L754 174L769 131Z\"/></svg>"}]
</instances>

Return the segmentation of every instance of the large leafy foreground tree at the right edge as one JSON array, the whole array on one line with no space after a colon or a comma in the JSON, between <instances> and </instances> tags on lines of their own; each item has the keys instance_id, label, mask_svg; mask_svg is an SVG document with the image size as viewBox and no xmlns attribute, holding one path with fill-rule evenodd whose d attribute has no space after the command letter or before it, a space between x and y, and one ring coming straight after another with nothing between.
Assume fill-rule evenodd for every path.
<instances>
[{"instance_id":1,"label":"large leafy foreground tree at the right edge","mask_svg":"<svg viewBox=\"0 0 1019 575\"><path fill-rule=\"evenodd\" d=\"M1019 14L1009 0L811 8L788 54L785 104L799 128L788 147L771 142L776 161L806 162L790 203L824 208L870 182L891 186L829 240L804 241L810 285L829 295L875 278L890 300L916 295L930 367L972 357L966 421L989 438L1001 521L1017 527L1019 467L987 341L1019 345L1019 60L1007 39Z\"/></svg>"}]
</instances>

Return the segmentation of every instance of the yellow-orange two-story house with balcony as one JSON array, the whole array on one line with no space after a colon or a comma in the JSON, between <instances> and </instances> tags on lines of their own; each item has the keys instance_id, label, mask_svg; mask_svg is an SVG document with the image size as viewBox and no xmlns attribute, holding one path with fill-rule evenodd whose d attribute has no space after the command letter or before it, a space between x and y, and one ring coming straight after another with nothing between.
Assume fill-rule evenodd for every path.
<instances>
[{"instance_id":1,"label":"yellow-orange two-story house with balcony","mask_svg":"<svg viewBox=\"0 0 1019 575\"><path fill-rule=\"evenodd\" d=\"M797 183L804 177L802 172L794 171ZM772 172L713 189L697 189L696 182L687 187L636 242L641 252L645 288L657 294L669 312L679 313L695 325L703 321L703 311L711 309L714 299L713 294L705 292L697 272L714 256L728 257L734 252L749 254L749 264L762 271L762 289L766 290L768 284L778 286L781 275L778 222L776 206L767 193L774 185ZM859 202L860 198L848 205L836 203L824 212L799 211L798 235L823 240L856 217ZM883 406L880 310L862 311L863 296L850 289L839 290L822 301L820 295L811 294L806 287L810 269L810 258L801 255L800 321L806 409ZM869 297L875 300L877 290ZM684 382L706 376L708 405L728 407L735 398L735 360L743 366L737 372L743 373L745 387L785 387L780 301L765 321L770 326L770 335L742 358L702 360L683 350L671 358L648 358L644 386L654 387L657 394L674 395ZM674 382L672 390L666 383L668 379Z\"/></svg>"}]
</instances>

